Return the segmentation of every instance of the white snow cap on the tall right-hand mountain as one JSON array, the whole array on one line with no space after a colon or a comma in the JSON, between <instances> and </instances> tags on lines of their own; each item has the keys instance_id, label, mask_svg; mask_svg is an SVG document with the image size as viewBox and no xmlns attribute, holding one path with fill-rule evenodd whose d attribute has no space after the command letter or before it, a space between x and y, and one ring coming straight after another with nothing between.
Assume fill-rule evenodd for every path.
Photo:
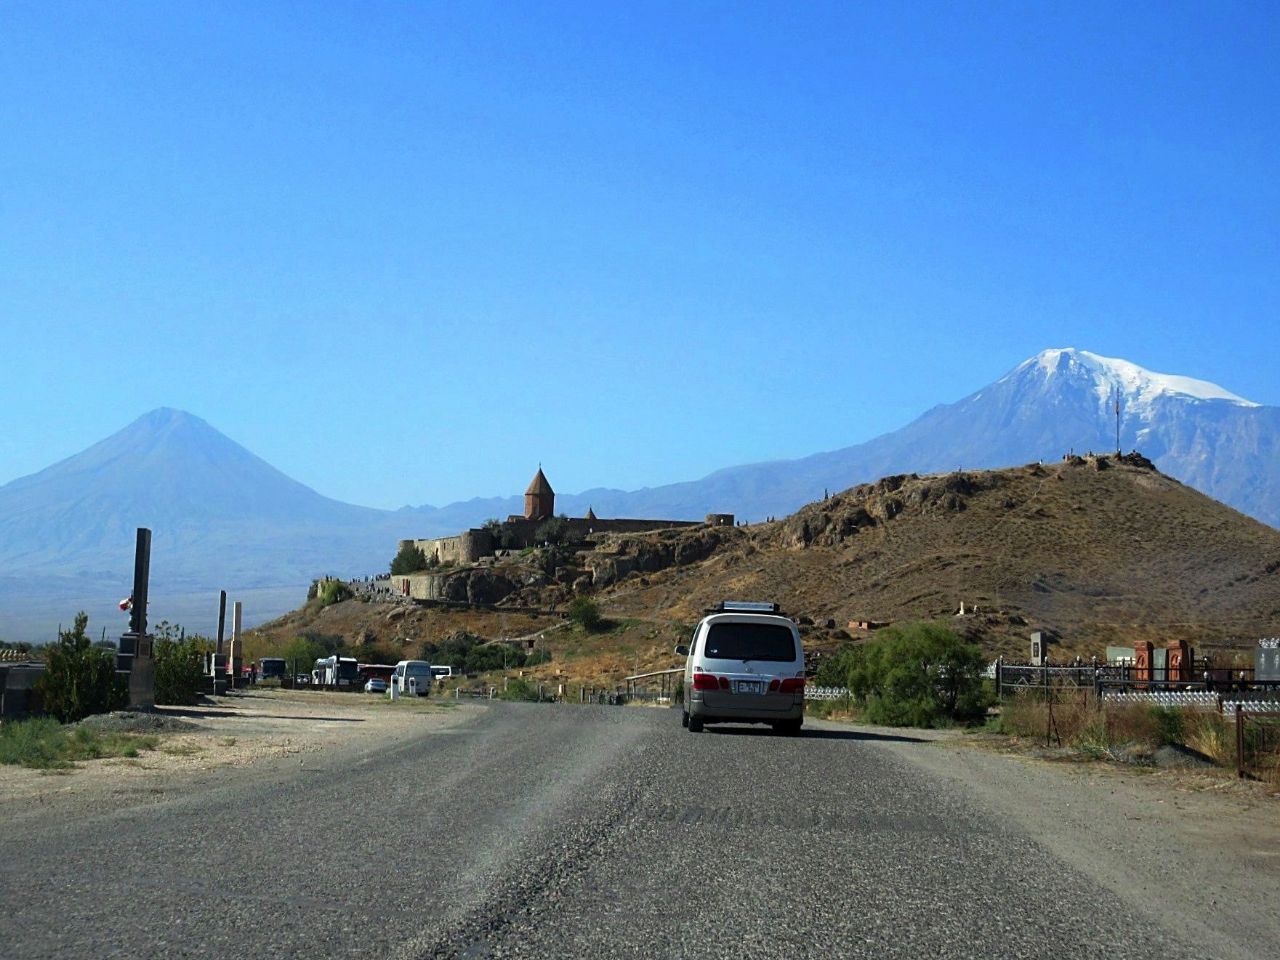
<instances>
[{"instance_id":1,"label":"white snow cap on the tall right-hand mountain","mask_svg":"<svg viewBox=\"0 0 1280 960\"><path fill-rule=\"evenodd\" d=\"M1128 360L1103 357L1075 347L1041 351L1020 364L1009 376L1041 376L1046 383L1064 378L1088 383L1101 403L1107 403L1116 390L1130 407L1149 407L1157 397L1179 397L1193 401L1226 401L1242 407L1257 407L1230 390L1207 380L1178 374L1157 374Z\"/></svg>"}]
</instances>

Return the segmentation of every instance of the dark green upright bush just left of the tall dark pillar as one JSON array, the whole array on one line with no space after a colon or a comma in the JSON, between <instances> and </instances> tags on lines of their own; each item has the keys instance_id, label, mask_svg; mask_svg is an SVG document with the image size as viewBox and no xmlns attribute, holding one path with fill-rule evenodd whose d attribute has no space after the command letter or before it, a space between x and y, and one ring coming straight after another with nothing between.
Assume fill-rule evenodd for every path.
<instances>
[{"instance_id":1,"label":"dark green upright bush just left of the tall dark pillar","mask_svg":"<svg viewBox=\"0 0 1280 960\"><path fill-rule=\"evenodd\" d=\"M129 685L115 672L115 654L95 648L84 632L88 614L76 614L70 630L58 632L58 643L45 653L45 672L36 691L46 712L63 723L93 713L110 713L129 705Z\"/></svg>"}]
</instances>

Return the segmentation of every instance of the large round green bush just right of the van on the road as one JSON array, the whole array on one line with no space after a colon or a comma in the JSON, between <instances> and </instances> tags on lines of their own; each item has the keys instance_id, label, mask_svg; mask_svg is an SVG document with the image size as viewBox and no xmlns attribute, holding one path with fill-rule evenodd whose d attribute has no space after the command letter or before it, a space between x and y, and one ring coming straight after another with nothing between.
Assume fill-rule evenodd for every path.
<instances>
[{"instance_id":1,"label":"large round green bush just right of the van on the road","mask_svg":"<svg viewBox=\"0 0 1280 960\"><path fill-rule=\"evenodd\" d=\"M826 680L842 680L872 723L934 727L973 722L987 712L987 664L943 623L886 627L836 655Z\"/></svg>"}]
</instances>

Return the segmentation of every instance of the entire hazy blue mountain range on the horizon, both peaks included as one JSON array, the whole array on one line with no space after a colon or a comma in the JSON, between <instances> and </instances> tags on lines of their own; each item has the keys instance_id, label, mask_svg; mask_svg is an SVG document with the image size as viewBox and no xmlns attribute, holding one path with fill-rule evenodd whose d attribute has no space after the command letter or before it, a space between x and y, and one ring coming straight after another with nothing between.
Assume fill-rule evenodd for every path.
<instances>
[{"instance_id":1,"label":"entire hazy blue mountain range on the horizon, both peaks included","mask_svg":"<svg viewBox=\"0 0 1280 960\"><path fill-rule=\"evenodd\" d=\"M1044 351L867 443L643 490L559 493L557 511L577 516L590 506L605 517L695 520L717 511L754 521L888 474L1114 449L1117 392L1123 449L1137 448L1162 472L1280 525L1280 408L1076 349ZM554 483L553 465L548 472ZM207 631L215 609L207 596L219 588L233 596L260 591L261 605L246 611L255 622L296 605L319 573L384 571L401 538L451 534L520 509L518 495L401 511L342 503L198 417L161 408L0 486L0 639L49 639L78 607L101 611L95 622L102 623L128 591L137 526L155 535L152 621Z\"/></svg>"}]
</instances>

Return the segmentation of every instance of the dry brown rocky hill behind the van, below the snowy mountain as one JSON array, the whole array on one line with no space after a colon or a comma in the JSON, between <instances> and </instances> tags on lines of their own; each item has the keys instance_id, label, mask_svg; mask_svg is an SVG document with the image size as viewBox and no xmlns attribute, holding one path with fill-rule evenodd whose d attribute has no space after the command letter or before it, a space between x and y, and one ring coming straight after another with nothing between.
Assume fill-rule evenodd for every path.
<instances>
[{"instance_id":1,"label":"dry brown rocky hill behind the van, below the snowy mountain","mask_svg":"<svg viewBox=\"0 0 1280 960\"><path fill-rule=\"evenodd\" d=\"M1280 531L1138 454L895 475L771 524L596 536L554 576L536 573L548 566L538 556L506 563L483 575L534 585L497 613L589 589L614 620L660 627L662 644L724 598L778 600L813 622L819 645L850 621L950 618L963 602L954 622L989 653L1018 657L1032 630L1057 637L1062 657L1142 637L1231 646L1280 626ZM387 634L384 605L339 607L347 613L324 616L355 617L348 636ZM495 612L449 611L449 628L483 634ZM289 626L310 628L306 617ZM669 659L662 644L646 664Z\"/></svg>"}]
</instances>

